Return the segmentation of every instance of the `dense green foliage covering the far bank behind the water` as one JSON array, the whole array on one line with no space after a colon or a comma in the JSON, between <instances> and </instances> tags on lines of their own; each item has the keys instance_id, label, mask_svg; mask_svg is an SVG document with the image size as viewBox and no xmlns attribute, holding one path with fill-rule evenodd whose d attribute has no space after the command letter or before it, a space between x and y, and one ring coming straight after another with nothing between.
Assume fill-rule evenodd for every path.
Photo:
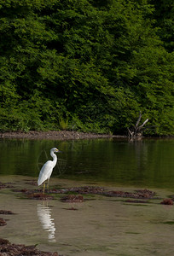
<instances>
[{"instance_id":1,"label":"dense green foliage covering the far bank behind the water","mask_svg":"<svg viewBox=\"0 0 174 256\"><path fill-rule=\"evenodd\" d=\"M170 0L0 0L0 129L174 134Z\"/></svg>"}]
</instances>

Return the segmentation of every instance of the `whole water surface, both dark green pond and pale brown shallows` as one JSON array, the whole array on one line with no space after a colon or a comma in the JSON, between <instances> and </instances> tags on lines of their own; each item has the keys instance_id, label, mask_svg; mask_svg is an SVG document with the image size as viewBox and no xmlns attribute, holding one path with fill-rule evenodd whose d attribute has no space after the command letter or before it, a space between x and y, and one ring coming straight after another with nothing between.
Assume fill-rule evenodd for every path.
<instances>
[{"instance_id":1,"label":"whole water surface, both dark green pond and pale brown shallows","mask_svg":"<svg viewBox=\"0 0 174 256\"><path fill-rule=\"evenodd\" d=\"M79 141L0 140L0 181L33 189L49 148L60 148L51 186L102 185L107 189L153 189L159 198L146 204L102 195L84 196L84 203L21 198L0 190L0 210L17 214L0 227L0 237L64 256L171 256L174 251L174 206L160 204L174 193L174 140L98 139ZM66 166L66 168L65 168ZM71 208L76 210L70 210Z\"/></svg>"}]
</instances>

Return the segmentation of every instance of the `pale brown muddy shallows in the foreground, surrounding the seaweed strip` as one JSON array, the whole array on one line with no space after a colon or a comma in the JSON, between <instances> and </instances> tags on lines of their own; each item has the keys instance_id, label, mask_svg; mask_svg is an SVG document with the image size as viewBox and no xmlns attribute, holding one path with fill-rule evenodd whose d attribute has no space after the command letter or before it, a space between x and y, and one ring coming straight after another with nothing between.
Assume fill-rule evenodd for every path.
<instances>
[{"instance_id":1,"label":"pale brown muddy shallows in the foreground, surrounding the seaweed strip","mask_svg":"<svg viewBox=\"0 0 174 256\"><path fill-rule=\"evenodd\" d=\"M17 189L33 189L34 186L27 183L32 179L3 176L1 182L14 183ZM84 183L52 178L51 187L57 185L69 188L84 186ZM104 183L94 185L105 186ZM164 189L154 191L159 198L172 194ZM67 203L61 201L62 195L54 196L52 201L35 201L10 188L1 189L0 210L16 213L0 216L7 221L7 225L0 227L1 237L14 243L38 244L38 249L43 251L74 256L171 256L174 251L174 206L161 205L161 199L134 204L120 197L84 195L84 202Z\"/></svg>"}]
</instances>

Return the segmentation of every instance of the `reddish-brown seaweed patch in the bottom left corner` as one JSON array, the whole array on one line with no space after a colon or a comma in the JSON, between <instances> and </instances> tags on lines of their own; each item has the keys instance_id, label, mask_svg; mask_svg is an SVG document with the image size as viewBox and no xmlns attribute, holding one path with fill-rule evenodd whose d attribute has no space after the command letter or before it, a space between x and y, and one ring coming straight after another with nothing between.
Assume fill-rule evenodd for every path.
<instances>
[{"instance_id":1,"label":"reddish-brown seaweed patch in the bottom left corner","mask_svg":"<svg viewBox=\"0 0 174 256\"><path fill-rule=\"evenodd\" d=\"M6 239L0 238L0 255L2 256L19 256L19 255L31 255L31 256L62 256L58 253L49 253L39 251L36 246L25 246L23 244L10 243Z\"/></svg>"}]
</instances>

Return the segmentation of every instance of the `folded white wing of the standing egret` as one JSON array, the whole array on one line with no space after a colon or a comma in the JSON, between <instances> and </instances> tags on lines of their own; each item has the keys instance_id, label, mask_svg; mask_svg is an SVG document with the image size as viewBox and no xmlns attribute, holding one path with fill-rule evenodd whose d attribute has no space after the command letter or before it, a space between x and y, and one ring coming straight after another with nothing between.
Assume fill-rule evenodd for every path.
<instances>
[{"instance_id":1,"label":"folded white wing of the standing egret","mask_svg":"<svg viewBox=\"0 0 174 256\"><path fill-rule=\"evenodd\" d=\"M38 186L40 186L42 183L44 183L45 180L47 180L50 177L52 171L53 162L51 160L48 160L40 170L38 176Z\"/></svg>"}]
</instances>

